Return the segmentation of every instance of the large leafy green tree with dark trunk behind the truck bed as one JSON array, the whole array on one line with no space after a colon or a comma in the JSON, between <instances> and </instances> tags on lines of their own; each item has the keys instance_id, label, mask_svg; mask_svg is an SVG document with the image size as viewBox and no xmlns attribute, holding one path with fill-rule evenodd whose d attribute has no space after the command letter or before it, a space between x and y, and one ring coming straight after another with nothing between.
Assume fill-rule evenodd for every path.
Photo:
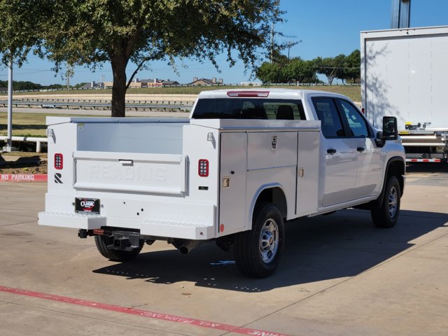
<instances>
[{"instance_id":1,"label":"large leafy green tree with dark trunk behind the truck bed","mask_svg":"<svg viewBox=\"0 0 448 336\"><path fill-rule=\"evenodd\" d=\"M6 11L0 6L1 13L13 20L22 3L36 6L31 0L3 0ZM125 116L127 87L149 62L165 59L175 66L176 59L193 58L217 66L216 56L225 53L230 65L237 56L248 69L257 62L260 48L269 48L271 23L281 20L279 0L41 0L36 7L41 10L34 10L35 27L23 33L36 38L19 39L20 55L29 45L38 45L56 70L65 62L93 71L110 62L115 117ZM1 27L11 36L6 42L25 31L20 22ZM8 43L0 46L4 51ZM127 78L129 62L137 69Z\"/></svg>"}]
</instances>

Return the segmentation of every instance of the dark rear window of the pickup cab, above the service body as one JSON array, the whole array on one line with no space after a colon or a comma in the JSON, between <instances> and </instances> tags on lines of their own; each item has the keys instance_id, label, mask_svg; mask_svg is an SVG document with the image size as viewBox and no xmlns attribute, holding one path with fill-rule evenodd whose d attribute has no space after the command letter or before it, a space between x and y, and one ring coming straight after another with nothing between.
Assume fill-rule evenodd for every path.
<instances>
[{"instance_id":1,"label":"dark rear window of the pickup cab, above the service body","mask_svg":"<svg viewBox=\"0 0 448 336\"><path fill-rule=\"evenodd\" d=\"M202 98L193 119L306 120L300 99Z\"/></svg>"}]
</instances>

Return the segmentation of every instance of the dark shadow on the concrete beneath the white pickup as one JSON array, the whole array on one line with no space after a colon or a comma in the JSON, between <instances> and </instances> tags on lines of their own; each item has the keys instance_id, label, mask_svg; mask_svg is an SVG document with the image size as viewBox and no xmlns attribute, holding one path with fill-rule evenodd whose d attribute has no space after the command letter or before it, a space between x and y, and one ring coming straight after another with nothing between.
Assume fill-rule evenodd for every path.
<instances>
[{"instance_id":1,"label":"dark shadow on the concrete beneath the white pickup","mask_svg":"<svg viewBox=\"0 0 448 336\"><path fill-rule=\"evenodd\" d=\"M118 263L94 273L126 276L153 283L191 281L195 286L247 293L355 276L407 250L412 241L448 223L448 214L401 211L395 228L375 228L370 213L343 210L330 216L304 218L286 224L283 258L273 276L242 276L226 253L214 243L179 251L141 253L131 262ZM143 250L145 251L145 250Z\"/></svg>"}]
</instances>

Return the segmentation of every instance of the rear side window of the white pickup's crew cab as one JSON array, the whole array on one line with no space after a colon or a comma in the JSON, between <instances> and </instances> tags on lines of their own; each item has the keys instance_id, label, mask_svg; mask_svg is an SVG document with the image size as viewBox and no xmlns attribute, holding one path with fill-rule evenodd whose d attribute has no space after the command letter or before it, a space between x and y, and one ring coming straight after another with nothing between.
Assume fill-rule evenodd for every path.
<instances>
[{"instance_id":1,"label":"rear side window of the white pickup's crew cab","mask_svg":"<svg viewBox=\"0 0 448 336\"><path fill-rule=\"evenodd\" d=\"M339 113L332 98L312 98L318 120L321 120L322 133L325 138L344 137Z\"/></svg>"}]
</instances>

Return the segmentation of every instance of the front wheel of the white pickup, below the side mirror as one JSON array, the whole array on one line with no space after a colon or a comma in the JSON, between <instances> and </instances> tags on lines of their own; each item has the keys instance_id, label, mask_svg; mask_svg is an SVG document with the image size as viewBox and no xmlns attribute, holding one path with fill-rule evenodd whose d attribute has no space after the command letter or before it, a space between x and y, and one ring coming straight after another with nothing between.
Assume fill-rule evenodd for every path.
<instances>
[{"instance_id":1,"label":"front wheel of the white pickup, below the side mirror","mask_svg":"<svg viewBox=\"0 0 448 336\"><path fill-rule=\"evenodd\" d=\"M370 210L372 220L377 228L392 228L400 214L400 183L396 176L390 176L384 190L381 207Z\"/></svg>"}]
</instances>

